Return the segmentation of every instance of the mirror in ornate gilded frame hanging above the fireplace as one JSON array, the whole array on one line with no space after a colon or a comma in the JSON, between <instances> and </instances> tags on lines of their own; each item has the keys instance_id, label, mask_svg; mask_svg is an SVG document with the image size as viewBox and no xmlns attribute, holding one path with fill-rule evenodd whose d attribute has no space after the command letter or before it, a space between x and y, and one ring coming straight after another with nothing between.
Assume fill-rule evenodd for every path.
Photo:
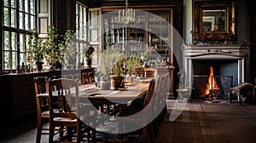
<instances>
[{"instance_id":1,"label":"mirror in ornate gilded frame hanging above the fireplace","mask_svg":"<svg viewBox=\"0 0 256 143\"><path fill-rule=\"evenodd\" d=\"M193 31L210 36L218 42L236 40L235 0L194 0Z\"/></svg>"}]
</instances>

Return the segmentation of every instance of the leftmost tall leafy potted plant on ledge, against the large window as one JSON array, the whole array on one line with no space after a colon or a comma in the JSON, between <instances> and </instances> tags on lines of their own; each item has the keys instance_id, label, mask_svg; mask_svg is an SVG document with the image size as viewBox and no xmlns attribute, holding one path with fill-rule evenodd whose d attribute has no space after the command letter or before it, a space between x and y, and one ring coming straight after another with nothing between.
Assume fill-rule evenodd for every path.
<instances>
[{"instance_id":1,"label":"leftmost tall leafy potted plant on ledge, against the large window","mask_svg":"<svg viewBox=\"0 0 256 143\"><path fill-rule=\"evenodd\" d=\"M30 35L28 39L28 46L26 47L26 60L27 66L30 66L32 62L35 62L35 66L38 72L41 72L43 69L43 43L41 39L38 39L38 35L35 30L32 30L32 35Z\"/></svg>"}]
</instances>

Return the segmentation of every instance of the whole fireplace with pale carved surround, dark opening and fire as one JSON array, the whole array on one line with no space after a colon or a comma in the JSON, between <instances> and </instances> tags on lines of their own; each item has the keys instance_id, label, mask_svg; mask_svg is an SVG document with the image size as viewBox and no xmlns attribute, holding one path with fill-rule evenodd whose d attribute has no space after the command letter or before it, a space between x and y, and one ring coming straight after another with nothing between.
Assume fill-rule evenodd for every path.
<instances>
[{"instance_id":1,"label":"whole fireplace with pale carved surround, dark opening and fire","mask_svg":"<svg viewBox=\"0 0 256 143\"><path fill-rule=\"evenodd\" d=\"M226 99L230 87L243 83L248 63L248 47L244 45L183 45L183 71L187 85L193 88L192 97ZM214 74L211 75L211 68ZM210 88L212 79L218 88Z\"/></svg>"}]
</instances>

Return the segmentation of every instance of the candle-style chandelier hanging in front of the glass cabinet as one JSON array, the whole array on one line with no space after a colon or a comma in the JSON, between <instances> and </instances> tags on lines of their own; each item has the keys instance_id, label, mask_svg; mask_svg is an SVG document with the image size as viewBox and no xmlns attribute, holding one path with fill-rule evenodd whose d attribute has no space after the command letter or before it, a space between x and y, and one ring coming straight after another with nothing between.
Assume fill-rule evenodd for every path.
<instances>
[{"instance_id":1,"label":"candle-style chandelier hanging in front of the glass cabinet","mask_svg":"<svg viewBox=\"0 0 256 143\"><path fill-rule=\"evenodd\" d=\"M125 3L125 9L119 10L118 23L127 26L130 22L135 21L135 10L128 8L128 0Z\"/></svg>"}]
</instances>

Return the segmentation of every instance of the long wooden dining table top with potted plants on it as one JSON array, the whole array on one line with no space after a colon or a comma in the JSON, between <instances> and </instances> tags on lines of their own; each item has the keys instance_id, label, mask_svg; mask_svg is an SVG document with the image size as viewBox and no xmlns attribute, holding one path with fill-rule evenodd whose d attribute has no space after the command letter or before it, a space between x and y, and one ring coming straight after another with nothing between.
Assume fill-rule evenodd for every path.
<instances>
[{"instance_id":1,"label":"long wooden dining table top with potted plants on it","mask_svg":"<svg viewBox=\"0 0 256 143\"><path fill-rule=\"evenodd\" d=\"M136 100L147 94L150 80L152 80L152 78L141 78L137 79L137 83L126 83L123 89L109 90L97 88L96 83L80 85L79 102L90 102L94 106L109 106L113 104L129 106L132 100ZM37 98L45 98L48 96L49 93L38 94Z\"/></svg>"}]
</instances>

